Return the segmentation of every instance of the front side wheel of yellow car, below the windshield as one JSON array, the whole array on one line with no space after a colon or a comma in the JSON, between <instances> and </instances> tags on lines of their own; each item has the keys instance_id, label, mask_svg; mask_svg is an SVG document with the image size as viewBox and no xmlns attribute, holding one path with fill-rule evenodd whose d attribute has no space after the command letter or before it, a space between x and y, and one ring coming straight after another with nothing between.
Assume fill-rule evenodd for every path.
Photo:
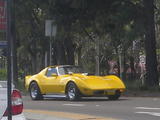
<instances>
[{"instance_id":1,"label":"front side wheel of yellow car, below the windshield","mask_svg":"<svg viewBox=\"0 0 160 120\"><path fill-rule=\"evenodd\" d=\"M67 96L67 100L69 101L76 101L80 99L80 92L76 84L74 84L73 82L70 82L67 85L66 96Z\"/></svg>"}]
</instances>

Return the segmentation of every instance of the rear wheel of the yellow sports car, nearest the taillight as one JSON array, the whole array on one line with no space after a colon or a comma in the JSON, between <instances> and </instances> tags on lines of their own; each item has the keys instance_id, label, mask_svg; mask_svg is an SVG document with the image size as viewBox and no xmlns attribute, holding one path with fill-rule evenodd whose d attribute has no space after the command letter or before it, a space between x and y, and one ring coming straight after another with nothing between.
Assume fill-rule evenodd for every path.
<instances>
[{"instance_id":1,"label":"rear wheel of the yellow sports car, nearest the taillight","mask_svg":"<svg viewBox=\"0 0 160 120\"><path fill-rule=\"evenodd\" d=\"M43 96L36 82L32 82L29 87L29 93L32 100L42 100Z\"/></svg>"}]
</instances>

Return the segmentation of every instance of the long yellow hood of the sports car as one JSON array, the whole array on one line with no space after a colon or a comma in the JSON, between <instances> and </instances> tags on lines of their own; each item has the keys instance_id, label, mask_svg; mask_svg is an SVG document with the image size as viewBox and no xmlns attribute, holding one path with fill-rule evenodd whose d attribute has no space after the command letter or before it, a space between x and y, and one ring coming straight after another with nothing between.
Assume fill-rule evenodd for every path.
<instances>
[{"instance_id":1,"label":"long yellow hood of the sports car","mask_svg":"<svg viewBox=\"0 0 160 120\"><path fill-rule=\"evenodd\" d=\"M88 76L88 75L83 75L83 74L74 74L73 76L78 77L80 79L82 79L84 81L84 83L86 83L86 85L89 88L92 89L106 89L106 88L117 88L119 86L123 86L123 85L119 85L119 83L117 84L117 81L115 81L114 79L110 79L110 78L105 78L103 76Z\"/></svg>"}]
</instances>

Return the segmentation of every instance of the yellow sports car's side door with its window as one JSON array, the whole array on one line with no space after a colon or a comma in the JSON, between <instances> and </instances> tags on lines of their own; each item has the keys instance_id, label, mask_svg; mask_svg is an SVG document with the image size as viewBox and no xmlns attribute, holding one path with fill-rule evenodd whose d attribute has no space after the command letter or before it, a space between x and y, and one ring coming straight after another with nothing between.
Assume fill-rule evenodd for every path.
<instances>
[{"instance_id":1,"label":"yellow sports car's side door with its window","mask_svg":"<svg viewBox=\"0 0 160 120\"><path fill-rule=\"evenodd\" d=\"M55 67L48 68L44 77L43 89L46 93L61 93L59 89L59 76Z\"/></svg>"}]
</instances>

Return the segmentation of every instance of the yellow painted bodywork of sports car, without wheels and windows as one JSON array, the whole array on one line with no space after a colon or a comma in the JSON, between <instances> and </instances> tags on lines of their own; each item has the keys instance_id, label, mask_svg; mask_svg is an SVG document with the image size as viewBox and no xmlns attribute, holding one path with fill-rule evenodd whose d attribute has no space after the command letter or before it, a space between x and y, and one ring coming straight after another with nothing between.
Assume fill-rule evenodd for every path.
<instances>
[{"instance_id":1,"label":"yellow painted bodywork of sports car, without wheels and windows","mask_svg":"<svg viewBox=\"0 0 160 120\"><path fill-rule=\"evenodd\" d=\"M31 82L35 81L40 88L41 94L58 93L65 94L67 84L74 82L80 92L85 96L94 96L94 92L104 90L106 95L114 95L116 90L124 92L126 89L123 81L115 75L108 76L88 76L81 73L65 75L46 76L46 72L51 67L43 69L36 75L25 77L25 87L29 90Z\"/></svg>"}]
</instances>

